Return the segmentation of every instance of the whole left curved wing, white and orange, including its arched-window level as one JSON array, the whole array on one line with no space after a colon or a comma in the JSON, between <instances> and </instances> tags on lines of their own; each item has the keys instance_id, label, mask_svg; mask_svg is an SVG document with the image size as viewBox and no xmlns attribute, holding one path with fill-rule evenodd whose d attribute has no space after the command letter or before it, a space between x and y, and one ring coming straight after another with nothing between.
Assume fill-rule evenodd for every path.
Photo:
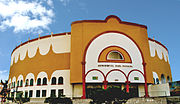
<instances>
[{"instance_id":1,"label":"whole left curved wing, white and orange, including its arched-window level","mask_svg":"<svg viewBox=\"0 0 180 104\"><path fill-rule=\"evenodd\" d=\"M30 40L15 48L11 56L9 73L11 88L14 89L17 82L23 80L23 86L18 90L28 93L29 90L33 90L33 97L36 96L36 90L47 90L48 97L50 89L59 88L64 89L64 94L71 97L70 40L70 34L54 34ZM41 78L42 84L44 77L47 78L47 85L37 86L37 78ZM64 84L52 86L52 77L56 77L57 80L63 77ZM34 80L33 86L29 86L31 78ZM25 85L26 79L29 80L28 86ZM12 86L12 82L15 82L15 87Z\"/></svg>"}]
</instances>

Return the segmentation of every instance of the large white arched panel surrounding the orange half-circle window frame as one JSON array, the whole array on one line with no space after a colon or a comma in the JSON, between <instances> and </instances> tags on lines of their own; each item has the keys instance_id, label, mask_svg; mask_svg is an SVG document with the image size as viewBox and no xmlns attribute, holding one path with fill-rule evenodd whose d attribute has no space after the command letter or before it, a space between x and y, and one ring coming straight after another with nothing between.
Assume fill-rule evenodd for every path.
<instances>
[{"instance_id":1,"label":"large white arched panel surrounding the orange half-circle window frame","mask_svg":"<svg viewBox=\"0 0 180 104\"><path fill-rule=\"evenodd\" d=\"M103 62L100 63L98 62L98 57L100 53L103 51L103 49L107 47L122 47L127 51L127 53L130 55L132 59L132 63L108 63L108 62ZM86 56L85 56L85 73L87 73L91 69L99 69L101 70L105 75L112 69L121 69L126 75L132 70L132 69L137 69L144 73L143 70L143 58L141 55L141 51L139 50L137 44L128 36L126 36L123 33L118 33L118 32L107 32L104 34L101 34L100 36L96 37L91 44L89 45ZM98 67L98 65L112 65L113 67ZM132 67L118 67L119 65L129 65ZM98 72L93 72L94 76L99 76ZM132 73L131 77L136 77L139 76L140 80L132 82L139 82L139 83L144 83L144 78L142 77L141 74L138 72L134 72L135 74ZM90 73L89 73L90 74ZM86 82L92 82L92 80L89 80L92 77L91 75L87 75L86 77ZM116 76L118 78L118 76ZM112 77L113 78L113 77ZM100 79L102 80L102 79Z\"/></svg>"}]
</instances>

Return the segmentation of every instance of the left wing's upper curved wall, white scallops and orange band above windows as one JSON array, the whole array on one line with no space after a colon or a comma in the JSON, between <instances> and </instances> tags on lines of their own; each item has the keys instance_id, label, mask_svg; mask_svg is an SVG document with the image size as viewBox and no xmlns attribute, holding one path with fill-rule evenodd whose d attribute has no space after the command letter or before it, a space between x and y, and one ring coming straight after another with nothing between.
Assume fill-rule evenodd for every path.
<instances>
[{"instance_id":1,"label":"left wing's upper curved wall, white scallops and orange band above windows","mask_svg":"<svg viewBox=\"0 0 180 104\"><path fill-rule=\"evenodd\" d=\"M70 69L70 35L37 39L20 46L12 53L9 78L25 78L28 73L35 77L45 71L50 78L57 70ZM25 79L24 79L25 80Z\"/></svg>"}]
</instances>

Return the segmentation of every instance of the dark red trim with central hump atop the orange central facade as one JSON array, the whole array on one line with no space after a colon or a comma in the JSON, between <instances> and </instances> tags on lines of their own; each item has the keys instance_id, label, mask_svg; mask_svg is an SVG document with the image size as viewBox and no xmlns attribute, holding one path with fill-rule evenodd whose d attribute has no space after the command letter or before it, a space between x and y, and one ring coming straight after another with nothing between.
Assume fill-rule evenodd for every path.
<instances>
[{"instance_id":1,"label":"dark red trim with central hump atop the orange central facade","mask_svg":"<svg viewBox=\"0 0 180 104\"><path fill-rule=\"evenodd\" d=\"M121 23L121 24L132 25L132 26L139 26L139 27L142 27L142 28L146 28L146 29L147 29L147 26L145 26L145 25L121 21L121 19L120 19L119 17L115 16L115 15L107 16L105 20L80 20L80 21L74 21L74 22L71 23L71 25L76 24L76 23L83 23L83 22L107 23L107 21L108 21L110 18L115 18L115 19L118 20L119 23Z\"/></svg>"}]
</instances>

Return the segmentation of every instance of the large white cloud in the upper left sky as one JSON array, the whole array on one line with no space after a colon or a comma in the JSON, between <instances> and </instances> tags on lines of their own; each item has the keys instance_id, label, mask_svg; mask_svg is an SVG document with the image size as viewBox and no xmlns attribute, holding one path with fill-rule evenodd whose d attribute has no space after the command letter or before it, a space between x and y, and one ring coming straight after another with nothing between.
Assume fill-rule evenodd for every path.
<instances>
[{"instance_id":1,"label":"large white cloud in the upper left sky","mask_svg":"<svg viewBox=\"0 0 180 104\"><path fill-rule=\"evenodd\" d=\"M14 32L49 30L48 25L52 23L54 17L50 5L53 5L52 0L0 1L0 18L2 18L0 19L0 30L6 30L8 27L13 27Z\"/></svg>"}]
</instances>

